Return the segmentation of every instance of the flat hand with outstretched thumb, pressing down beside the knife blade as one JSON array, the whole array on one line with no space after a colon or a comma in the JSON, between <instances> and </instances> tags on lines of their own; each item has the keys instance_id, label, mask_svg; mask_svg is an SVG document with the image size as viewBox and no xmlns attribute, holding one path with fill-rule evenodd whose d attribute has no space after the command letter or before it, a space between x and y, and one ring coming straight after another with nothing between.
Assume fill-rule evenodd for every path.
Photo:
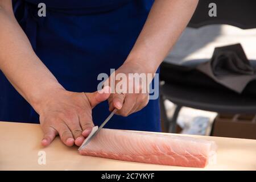
<instances>
[{"instance_id":1,"label":"flat hand with outstretched thumb, pressing down beside the knife blade","mask_svg":"<svg viewBox=\"0 0 256 182\"><path fill-rule=\"evenodd\" d=\"M110 88L103 92L76 93L57 90L40 106L40 124L44 137L42 145L48 146L57 134L67 146L80 146L92 130L92 109L109 98Z\"/></svg>"}]
</instances>

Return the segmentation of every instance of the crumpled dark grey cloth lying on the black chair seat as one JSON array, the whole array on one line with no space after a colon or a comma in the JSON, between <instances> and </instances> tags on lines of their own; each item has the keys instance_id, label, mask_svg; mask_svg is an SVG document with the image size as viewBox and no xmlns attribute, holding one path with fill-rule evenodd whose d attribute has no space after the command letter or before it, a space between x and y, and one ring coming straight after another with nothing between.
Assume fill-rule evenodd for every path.
<instances>
[{"instance_id":1,"label":"crumpled dark grey cloth lying on the black chair seat","mask_svg":"<svg viewBox=\"0 0 256 182\"><path fill-rule=\"evenodd\" d=\"M196 69L237 93L242 93L246 85L256 79L255 68L241 44L215 48L212 59L197 65Z\"/></svg>"}]
</instances>

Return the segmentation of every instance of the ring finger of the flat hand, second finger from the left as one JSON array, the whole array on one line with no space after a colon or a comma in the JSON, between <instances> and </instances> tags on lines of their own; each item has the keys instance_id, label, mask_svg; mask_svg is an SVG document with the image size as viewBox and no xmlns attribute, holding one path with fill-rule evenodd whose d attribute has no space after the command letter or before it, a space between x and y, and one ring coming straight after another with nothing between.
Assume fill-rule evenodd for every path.
<instances>
[{"instance_id":1,"label":"ring finger of the flat hand, second finger from the left","mask_svg":"<svg viewBox=\"0 0 256 182\"><path fill-rule=\"evenodd\" d=\"M68 126L66 125L65 122L60 122L59 125L60 126L57 131L59 132L62 142L69 147L73 146L75 140Z\"/></svg>"}]
</instances>

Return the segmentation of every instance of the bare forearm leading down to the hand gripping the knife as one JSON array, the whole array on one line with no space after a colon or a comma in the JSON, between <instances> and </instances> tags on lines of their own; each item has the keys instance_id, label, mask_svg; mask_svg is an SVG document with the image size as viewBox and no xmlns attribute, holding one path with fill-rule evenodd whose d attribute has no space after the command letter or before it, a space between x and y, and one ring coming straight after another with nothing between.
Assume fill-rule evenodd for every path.
<instances>
[{"instance_id":1,"label":"bare forearm leading down to the hand gripping the knife","mask_svg":"<svg viewBox=\"0 0 256 182\"><path fill-rule=\"evenodd\" d=\"M154 73L193 15L198 0L156 0L126 62Z\"/></svg>"}]
</instances>

